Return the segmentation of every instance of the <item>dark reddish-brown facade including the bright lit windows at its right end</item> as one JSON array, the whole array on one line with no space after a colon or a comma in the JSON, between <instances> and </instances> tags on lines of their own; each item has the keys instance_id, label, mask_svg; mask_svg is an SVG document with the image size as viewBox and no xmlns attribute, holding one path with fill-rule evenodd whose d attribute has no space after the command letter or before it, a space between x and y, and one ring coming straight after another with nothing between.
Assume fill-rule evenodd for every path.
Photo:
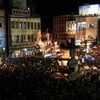
<instances>
[{"instance_id":1,"label":"dark reddish-brown facade including the bright lit windows at its right end","mask_svg":"<svg viewBox=\"0 0 100 100\"><path fill-rule=\"evenodd\" d=\"M66 43L69 38L75 37L75 15L60 15L53 18L53 40L58 44Z\"/></svg>"}]
</instances>

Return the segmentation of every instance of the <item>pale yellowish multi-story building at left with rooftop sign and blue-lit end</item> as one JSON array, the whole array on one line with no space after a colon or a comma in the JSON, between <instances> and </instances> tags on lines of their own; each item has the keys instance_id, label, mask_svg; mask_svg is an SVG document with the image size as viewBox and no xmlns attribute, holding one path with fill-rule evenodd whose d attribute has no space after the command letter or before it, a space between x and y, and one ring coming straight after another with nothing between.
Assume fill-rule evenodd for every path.
<instances>
[{"instance_id":1,"label":"pale yellowish multi-story building at left with rooftop sign and blue-lit end","mask_svg":"<svg viewBox=\"0 0 100 100\"><path fill-rule=\"evenodd\" d=\"M10 0L11 9L0 9L0 53L29 55L41 37L41 18L30 15L26 0Z\"/></svg>"}]
</instances>

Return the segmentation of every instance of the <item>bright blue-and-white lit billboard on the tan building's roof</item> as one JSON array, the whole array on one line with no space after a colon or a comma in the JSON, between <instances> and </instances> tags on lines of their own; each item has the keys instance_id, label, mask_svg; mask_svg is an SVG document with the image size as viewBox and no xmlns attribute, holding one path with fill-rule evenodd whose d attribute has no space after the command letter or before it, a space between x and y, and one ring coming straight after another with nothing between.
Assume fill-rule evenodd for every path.
<instances>
[{"instance_id":1,"label":"bright blue-and-white lit billboard on the tan building's roof","mask_svg":"<svg viewBox=\"0 0 100 100\"><path fill-rule=\"evenodd\" d=\"M79 15L100 14L100 4L79 6Z\"/></svg>"}]
</instances>

